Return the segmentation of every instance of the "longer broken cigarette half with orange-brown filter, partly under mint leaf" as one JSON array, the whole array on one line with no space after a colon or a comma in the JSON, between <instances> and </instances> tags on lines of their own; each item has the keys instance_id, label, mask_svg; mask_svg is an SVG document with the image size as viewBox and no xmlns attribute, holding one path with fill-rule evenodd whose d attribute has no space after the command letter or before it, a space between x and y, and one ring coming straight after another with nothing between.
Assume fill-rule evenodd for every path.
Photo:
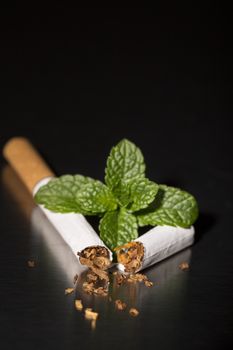
<instances>
[{"instance_id":1,"label":"longer broken cigarette half with orange-brown filter, partly under mint leaf","mask_svg":"<svg viewBox=\"0 0 233 350\"><path fill-rule=\"evenodd\" d=\"M3 154L32 195L55 176L36 149L25 138L15 137L9 140L4 147ZM54 213L41 205L39 207L81 264L81 257L77 254L85 255L90 248L95 248L100 257L102 253L110 264L112 252L83 215Z\"/></svg>"}]
</instances>

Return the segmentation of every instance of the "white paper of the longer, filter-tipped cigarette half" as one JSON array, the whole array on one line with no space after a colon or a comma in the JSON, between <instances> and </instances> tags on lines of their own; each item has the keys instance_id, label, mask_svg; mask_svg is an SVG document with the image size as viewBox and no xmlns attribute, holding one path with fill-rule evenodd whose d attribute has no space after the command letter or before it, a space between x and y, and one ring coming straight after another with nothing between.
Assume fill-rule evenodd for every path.
<instances>
[{"instance_id":1,"label":"white paper of the longer, filter-tipped cigarette half","mask_svg":"<svg viewBox=\"0 0 233 350\"><path fill-rule=\"evenodd\" d=\"M39 181L36 184L33 193L35 194L40 187L46 185L51 179L51 177L48 177ZM42 205L39 207L77 258L79 258L77 253L81 252L83 249L91 246L100 246L105 247L108 250L110 260L112 260L112 252L100 239L99 235L94 231L82 214L60 214L52 212L44 208Z\"/></svg>"}]
</instances>

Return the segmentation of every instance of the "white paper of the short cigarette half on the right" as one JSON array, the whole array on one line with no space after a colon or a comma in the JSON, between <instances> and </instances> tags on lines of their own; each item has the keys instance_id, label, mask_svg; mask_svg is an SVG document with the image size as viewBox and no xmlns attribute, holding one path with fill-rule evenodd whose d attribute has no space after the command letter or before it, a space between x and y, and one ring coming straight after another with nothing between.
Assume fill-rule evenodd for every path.
<instances>
[{"instance_id":1,"label":"white paper of the short cigarette half on the right","mask_svg":"<svg viewBox=\"0 0 233 350\"><path fill-rule=\"evenodd\" d=\"M188 229L173 226L156 226L144 235L132 242L139 242L143 245L144 254L141 265L135 272L143 270L157 262L166 259L189 247L194 242L194 227ZM118 264L121 271L125 271L123 264Z\"/></svg>"}]
</instances>

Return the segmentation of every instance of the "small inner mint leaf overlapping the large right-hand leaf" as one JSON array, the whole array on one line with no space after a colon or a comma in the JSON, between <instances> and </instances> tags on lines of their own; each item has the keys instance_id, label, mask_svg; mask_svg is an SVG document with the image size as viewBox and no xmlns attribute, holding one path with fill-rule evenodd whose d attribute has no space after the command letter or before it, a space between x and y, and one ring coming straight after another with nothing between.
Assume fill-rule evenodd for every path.
<instances>
[{"instance_id":1,"label":"small inner mint leaf overlapping the large right-hand leaf","mask_svg":"<svg viewBox=\"0 0 233 350\"><path fill-rule=\"evenodd\" d=\"M146 178L137 179L130 186L131 201L130 211L137 211L148 207L153 202L159 190L159 185Z\"/></svg>"}]
</instances>

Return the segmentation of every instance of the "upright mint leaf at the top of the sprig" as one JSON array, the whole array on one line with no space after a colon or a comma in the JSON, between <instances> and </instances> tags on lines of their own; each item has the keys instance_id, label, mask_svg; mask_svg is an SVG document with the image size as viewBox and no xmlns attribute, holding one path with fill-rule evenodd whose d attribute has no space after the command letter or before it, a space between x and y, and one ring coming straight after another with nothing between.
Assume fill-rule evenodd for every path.
<instances>
[{"instance_id":1,"label":"upright mint leaf at the top of the sprig","mask_svg":"<svg viewBox=\"0 0 233 350\"><path fill-rule=\"evenodd\" d=\"M142 152L132 142L123 139L111 149L105 169L105 182L114 193L121 181L127 182L144 176Z\"/></svg>"}]
</instances>

